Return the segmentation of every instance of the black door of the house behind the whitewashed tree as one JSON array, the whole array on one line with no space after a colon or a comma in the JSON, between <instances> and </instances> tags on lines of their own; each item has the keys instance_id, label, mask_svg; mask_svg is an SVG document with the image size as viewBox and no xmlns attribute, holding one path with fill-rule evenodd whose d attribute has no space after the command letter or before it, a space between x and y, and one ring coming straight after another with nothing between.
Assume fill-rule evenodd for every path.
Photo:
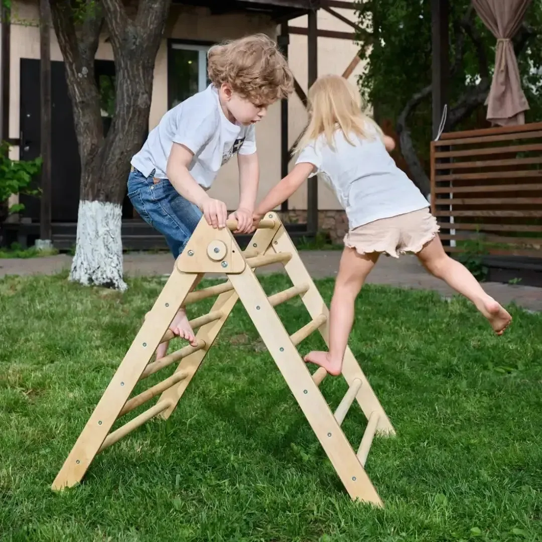
<instances>
[{"instance_id":1,"label":"black door of the house behind the whitewashed tree","mask_svg":"<svg viewBox=\"0 0 542 542\"><path fill-rule=\"evenodd\" d=\"M96 61L96 80L114 78L113 61ZM104 132L110 119L104 117ZM21 159L40 156L40 61L21 59ZM39 186L39 176L35 179ZM72 102L64 73L64 63L51 61L51 220L77 222L81 162L75 135ZM130 200L125 198L123 217L132 216ZM21 196L23 216L40 220L40 200Z\"/></svg>"}]
</instances>

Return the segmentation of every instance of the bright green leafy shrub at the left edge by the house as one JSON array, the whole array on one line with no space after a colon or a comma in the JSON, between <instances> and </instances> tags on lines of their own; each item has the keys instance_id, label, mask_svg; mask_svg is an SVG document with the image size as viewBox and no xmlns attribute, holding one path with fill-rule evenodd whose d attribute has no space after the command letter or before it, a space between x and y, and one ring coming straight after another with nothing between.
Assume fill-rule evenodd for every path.
<instances>
[{"instance_id":1,"label":"bright green leafy shrub at the left edge by the house","mask_svg":"<svg viewBox=\"0 0 542 542\"><path fill-rule=\"evenodd\" d=\"M38 195L40 189L30 186L32 179L41 170L42 159L11 160L9 157L9 143L0 143L0 206L5 208L8 199L13 194ZM20 212L24 205L18 203L7 209L8 213ZM0 220L1 222L1 220Z\"/></svg>"}]
</instances>

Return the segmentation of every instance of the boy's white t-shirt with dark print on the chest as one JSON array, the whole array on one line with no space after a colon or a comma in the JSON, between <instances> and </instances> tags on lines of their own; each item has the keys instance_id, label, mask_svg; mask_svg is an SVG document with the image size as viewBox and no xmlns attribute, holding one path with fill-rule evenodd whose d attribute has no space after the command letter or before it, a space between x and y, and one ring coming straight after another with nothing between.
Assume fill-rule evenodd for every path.
<instances>
[{"instance_id":1,"label":"boy's white t-shirt with dark print on the chest","mask_svg":"<svg viewBox=\"0 0 542 542\"><path fill-rule=\"evenodd\" d=\"M254 125L233 124L218 100L217 89L204 91L170 109L149 133L131 164L143 175L167 178L166 167L173 143L188 147L194 154L188 169L196 182L210 188L218 170L235 154L256 152Z\"/></svg>"}]
</instances>

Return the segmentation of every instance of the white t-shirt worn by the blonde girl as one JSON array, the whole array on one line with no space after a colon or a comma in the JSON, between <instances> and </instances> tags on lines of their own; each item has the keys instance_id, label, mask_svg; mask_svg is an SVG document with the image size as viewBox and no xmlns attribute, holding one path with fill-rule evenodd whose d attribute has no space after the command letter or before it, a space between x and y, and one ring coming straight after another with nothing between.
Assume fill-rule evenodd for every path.
<instances>
[{"instance_id":1,"label":"white t-shirt worn by the blonde girl","mask_svg":"<svg viewBox=\"0 0 542 542\"><path fill-rule=\"evenodd\" d=\"M332 149L321 134L299 154L296 164L314 165L310 177L318 175L335 193L346 211L349 228L429 207L417 186L399 169L376 130L375 139L335 131Z\"/></svg>"}]
</instances>

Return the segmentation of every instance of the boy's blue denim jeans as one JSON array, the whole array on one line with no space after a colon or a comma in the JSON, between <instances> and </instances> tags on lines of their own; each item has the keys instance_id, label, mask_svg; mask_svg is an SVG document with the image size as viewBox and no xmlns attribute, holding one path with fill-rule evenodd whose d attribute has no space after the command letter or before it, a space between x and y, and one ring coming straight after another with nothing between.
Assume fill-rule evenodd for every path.
<instances>
[{"instance_id":1,"label":"boy's blue denim jeans","mask_svg":"<svg viewBox=\"0 0 542 542\"><path fill-rule=\"evenodd\" d=\"M128 197L143 220L165 238L174 258L182 253L203 213L183 198L167 179L149 177L132 167Z\"/></svg>"}]
</instances>

